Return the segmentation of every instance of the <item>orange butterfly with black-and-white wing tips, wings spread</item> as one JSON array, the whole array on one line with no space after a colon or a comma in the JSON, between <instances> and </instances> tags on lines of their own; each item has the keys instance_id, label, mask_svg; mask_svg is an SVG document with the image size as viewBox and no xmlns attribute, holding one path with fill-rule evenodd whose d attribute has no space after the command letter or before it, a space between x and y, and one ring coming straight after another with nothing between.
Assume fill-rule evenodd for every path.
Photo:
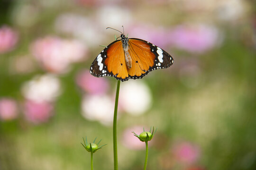
<instances>
[{"instance_id":1,"label":"orange butterfly with black-and-white wing tips, wings spread","mask_svg":"<svg viewBox=\"0 0 256 170\"><path fill-rule=\"evenodd\" d=\"M154 44L120 33L121 39L110 43L92 62L92 76L113 76L127 81L129 78L142 78L150 71L168 68L174 63L170 54Z\"/></svg>"}]
</instances>

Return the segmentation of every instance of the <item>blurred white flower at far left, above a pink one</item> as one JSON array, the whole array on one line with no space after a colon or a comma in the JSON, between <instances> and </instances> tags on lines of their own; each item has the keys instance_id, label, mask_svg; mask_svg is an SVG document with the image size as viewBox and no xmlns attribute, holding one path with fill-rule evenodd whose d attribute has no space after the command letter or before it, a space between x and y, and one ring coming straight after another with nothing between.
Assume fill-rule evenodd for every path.
<instances>
[{"instance_id":1,"label":"blurred white flower at far left, above a pink one","mask_svg":"<svg viewBox=\"0 0 256 170\"><path fill-rule=\"evenodd\" d=\"M53 102L60 94L60 81L51 74L36 76L22 86L22 93L35 102Z\"/></svg>"}]
</instances>

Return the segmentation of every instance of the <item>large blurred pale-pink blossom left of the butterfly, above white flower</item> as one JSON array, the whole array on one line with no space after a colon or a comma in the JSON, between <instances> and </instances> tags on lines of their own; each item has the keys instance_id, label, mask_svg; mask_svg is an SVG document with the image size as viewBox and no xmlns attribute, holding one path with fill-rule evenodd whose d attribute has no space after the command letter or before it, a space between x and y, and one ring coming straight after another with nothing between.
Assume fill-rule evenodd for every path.
<instances>
[{"instance_id":1,"label":"large blurred pale-pink blossom left of the butterfly, above white flower","mask_svg":"<svg viewBox=\"0 0 256 170\"><path fill-rule=\"evenodd\" d=\"M71 63L85 59L87 47L76 40L64 40L55 36L37 39L31 51L47 71L64 73Z\"/></svg>"}]
</instances>

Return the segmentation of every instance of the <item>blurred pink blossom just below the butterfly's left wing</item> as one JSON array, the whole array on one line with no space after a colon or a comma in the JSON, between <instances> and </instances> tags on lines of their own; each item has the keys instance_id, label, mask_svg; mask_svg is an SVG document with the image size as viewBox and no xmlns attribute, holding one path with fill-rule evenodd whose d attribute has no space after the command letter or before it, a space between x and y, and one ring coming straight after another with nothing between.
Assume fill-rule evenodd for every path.
<instances>
[{"instance_id":1,"label":"blurred pink blossom just below the butterfly's left wing","mask_svg":"<svg viewBox=\"0 0 256 170\"><path fill-rule=\"evenodd\" d=\"M107 79L92 76L89 70L80 71L76 76L76 83L82 90L93 94L103 94L109 89Z\"/></svg>"}]
</instances>

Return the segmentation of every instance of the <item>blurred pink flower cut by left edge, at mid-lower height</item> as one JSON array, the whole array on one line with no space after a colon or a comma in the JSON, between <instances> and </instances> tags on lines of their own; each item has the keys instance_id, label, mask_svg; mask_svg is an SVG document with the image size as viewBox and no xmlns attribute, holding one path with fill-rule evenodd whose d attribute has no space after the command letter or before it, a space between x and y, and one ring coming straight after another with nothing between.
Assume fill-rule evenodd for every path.
<instances>
[{"instance_id":1,"label":"blurred pink flower cut by left edge, at mid-lower height","mask_svg":"<svg viewBox=\"0 0 256 170\"><path fill-rule=\"evenodd\" d=\"M13 99L0 99L0 119L12 120L18 116L18 106Z\"/></svg>"}]
</instances>

